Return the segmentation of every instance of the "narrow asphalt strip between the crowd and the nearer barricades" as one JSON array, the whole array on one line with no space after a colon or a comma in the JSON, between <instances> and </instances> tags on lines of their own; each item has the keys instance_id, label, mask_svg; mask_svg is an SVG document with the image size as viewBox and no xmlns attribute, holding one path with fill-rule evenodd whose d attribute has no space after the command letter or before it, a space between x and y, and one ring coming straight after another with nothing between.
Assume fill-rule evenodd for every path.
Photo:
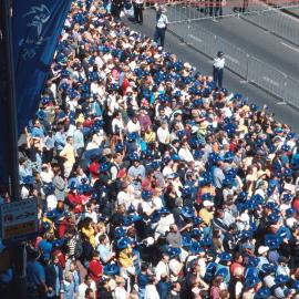
<instances>
[{"instance_id":1,"label":"narrow asphalt strip between the crowd and the nearer barricades","mask_svg":"<svg viewBox=\"0 0 299 299\"><path fill-rule=\"evenodd\" d=\"M123 18L123 21L132 30L138 31L144 35L152 38L154 34L155 19L153 11L151 10L144 11L143 25L131 23L126 20L126 18ZM172 34L171 32L166 33L165 51L175 53L178 59L184 62L189 62L192 65L196 66L197 70L202 73L207 75L212 74L212 61L206 55L203 55L195 49L192 49L185 43L182 43L177 39L177 37ZM227 87L229 92L243 93L244 96L249 97L250 102L254 102L259 106L262 106L264 104L268 105L269 111L271 113L275 113L277 121L289 124L293 128L293 131L299 134L299 112L293 107L287 104L281 104L277 99L256 87L255 85L241 82L241 79L238 75L229 72L228 70L225 70L224 86Z\"/></svg>"}]
</instances>

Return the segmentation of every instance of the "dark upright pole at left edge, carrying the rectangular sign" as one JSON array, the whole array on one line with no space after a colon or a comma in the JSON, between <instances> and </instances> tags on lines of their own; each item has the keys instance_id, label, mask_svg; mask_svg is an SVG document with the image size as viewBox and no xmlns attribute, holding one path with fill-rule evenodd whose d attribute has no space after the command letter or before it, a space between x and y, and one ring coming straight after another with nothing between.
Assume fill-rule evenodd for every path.
<instances>
[{"instance_id":1,"label":"dark upright pole at left edge, carrying the rectangular sign","mask_svg":"<svg viewBox=\"0 0 299 299\"><path fill-rule=\"evenodd\" d=\"M19 155L18 155L18 122L14 82L14 63L12 47L12 8L11 0L1 0L1 19L3 24L4 58L6 58L6 102L8 113L8 153L9 153L9 184L11 200L20 200L19 185ZM14 277L12 297L27 298L25 244L18 243L13 246L12 257Z\"/></svg>"}]
</instances>

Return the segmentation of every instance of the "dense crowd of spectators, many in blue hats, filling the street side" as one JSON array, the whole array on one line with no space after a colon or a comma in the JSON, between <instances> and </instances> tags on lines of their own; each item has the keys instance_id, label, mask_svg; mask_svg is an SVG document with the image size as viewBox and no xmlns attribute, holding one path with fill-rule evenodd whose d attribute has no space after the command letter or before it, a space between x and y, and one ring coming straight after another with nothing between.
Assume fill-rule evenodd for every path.
<instances>
[{"instance_id":1,"label":"dense crowd of spectators, many in blue hats, filling the street side","mask_svg":"<svg viewBox=\"0 0 299 299\"><path fill-rule=\"evenodd\" d=\"M28 298L299 298L295 132L107 4L73 1L20 140Z\"/></svg>"}]
</instances>

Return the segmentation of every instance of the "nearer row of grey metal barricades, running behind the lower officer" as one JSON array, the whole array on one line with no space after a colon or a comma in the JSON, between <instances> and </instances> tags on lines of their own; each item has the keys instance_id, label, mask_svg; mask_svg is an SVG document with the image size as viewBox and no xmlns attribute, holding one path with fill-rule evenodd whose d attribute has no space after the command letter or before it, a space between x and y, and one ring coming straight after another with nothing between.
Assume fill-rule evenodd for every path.
<instances>
[{"instance_id":1,"label":"nearer row of grey metal barricades, running behind the lower officer","mask_svg":"<svg viewBox=\"0 0 299 299\"><path fill-rule=\"evenodd\" d=\"M204 30L196 22L169 24L169 30L184 42L213 58L220 49L226 66L248 82L299 109L299 81L250 55L223 38Z\"/></svg>"}]
</instances>

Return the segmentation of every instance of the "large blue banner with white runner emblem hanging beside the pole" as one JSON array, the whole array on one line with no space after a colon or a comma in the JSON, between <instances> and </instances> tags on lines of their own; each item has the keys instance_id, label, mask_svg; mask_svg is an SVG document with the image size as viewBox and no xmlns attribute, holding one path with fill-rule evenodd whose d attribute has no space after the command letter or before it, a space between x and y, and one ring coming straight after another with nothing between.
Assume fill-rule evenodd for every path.
<instances>
[{"instance_id":1,"label":"large blue banner with white runner emblem hanging beside the pole","mask_svg":"<svg viewBox=\"0 0 299 299\"><path fill-rule=\"evenodd\" d=\"M71 3L72 0L12 1L19 134L37 111Z\"/></svg>"}]
</instances>

